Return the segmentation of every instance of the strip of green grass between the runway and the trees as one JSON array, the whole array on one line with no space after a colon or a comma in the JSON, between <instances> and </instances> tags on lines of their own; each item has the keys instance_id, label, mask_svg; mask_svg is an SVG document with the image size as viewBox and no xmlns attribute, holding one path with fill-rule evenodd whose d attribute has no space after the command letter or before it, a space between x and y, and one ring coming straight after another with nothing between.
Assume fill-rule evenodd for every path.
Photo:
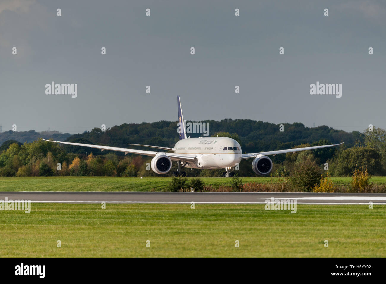
<instances>
[{"instance_id":1,"label":"strip of green grass between the runway and the trees","mask_svg":"<svg viewBox=\"0 0 386 284\"><path fill-rule=\"evenodd\" d=\"M0 191L162 191L170 177L0 177ZM205 185L218 188L230 177L201 177ZM243 183L275 183L275 177L242 177ZM351 177L332 177L337 185L348 185ZM386 184L386 177L371 177L375 184Z\"/></svg>"}]
</instances>

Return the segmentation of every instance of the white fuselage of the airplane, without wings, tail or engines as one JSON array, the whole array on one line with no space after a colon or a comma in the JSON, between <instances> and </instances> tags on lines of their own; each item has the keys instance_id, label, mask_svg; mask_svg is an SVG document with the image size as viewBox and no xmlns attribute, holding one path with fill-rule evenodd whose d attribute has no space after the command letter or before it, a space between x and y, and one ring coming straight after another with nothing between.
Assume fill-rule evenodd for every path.
<instances>
[{"instance_id":1,"label":"white fuselage of the airplane, without wings, tail or engines","mask_svg":"<svg viewBox=\"0 0 386 284\"><path fill-rule=\"evenodd\" d=\"M176 154L195 155L197 161L186 165L194 169L235 167L240 163L242 154L240 144L229 137L182 139L176 143L174 149Z\"/></svg>"}]
</instances>

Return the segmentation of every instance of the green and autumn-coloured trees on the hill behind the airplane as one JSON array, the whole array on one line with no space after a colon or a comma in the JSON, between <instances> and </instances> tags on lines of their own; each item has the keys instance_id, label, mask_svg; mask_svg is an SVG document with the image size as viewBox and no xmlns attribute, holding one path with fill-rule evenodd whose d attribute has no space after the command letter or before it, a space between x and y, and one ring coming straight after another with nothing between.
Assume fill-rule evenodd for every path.
<instances>
[{"instance_id":1,"label":"green and autumn-coloured trees on the hill behind the airplane","mask_svg":"<svg viewBox=\"0 0 386 284\"><path fill-rule=\"evenodd\" d=\"M200 134L192 134L193 137ZM243 152L345 144L338 147L270 156L274 162L271 176L289 176L303 169L304 164L316 167L321 174L351 176L358 168L366 167L369 174L386 175L386 131L374 127L363 132L344 132L327 126L305 127L302 123L279 125L253 120L210 121L210 136L227 136L237 140ZM49 137L43 137L49 138ZM68 137L68 142L128 147L128 143L173 147L178 140L177 123L122 124L103 132L94 128L89 132ZM143 147L141 149L144 149ZM152 157L124 155L104 151L59 145L37 139L20 143L7 140L0 147L1 176L156 176L149 164ZM235 172L239 176L255 176L252 159L240 162ZM171 172L176 170L173 163ZM222 176L219 170L187 170L188 176Z\"/></svg>"}]
</instances>

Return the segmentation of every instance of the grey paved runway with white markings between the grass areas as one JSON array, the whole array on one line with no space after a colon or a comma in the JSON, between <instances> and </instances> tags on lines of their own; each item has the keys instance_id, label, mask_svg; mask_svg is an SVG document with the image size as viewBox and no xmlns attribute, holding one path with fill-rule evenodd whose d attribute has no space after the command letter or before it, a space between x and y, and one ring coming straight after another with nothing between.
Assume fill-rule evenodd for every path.
<instances>
[{"instance_id":1,"label":"grey paved runway with white markings between the grass areas","mask_svg":"<svg viewBox=\"0 0 386 284\"><path fill-rule=\"evenodd\" d=\"M386 193L235 193L235 192L1 192L2 200L34 203L191 203L264 204L292 199L297 204L386 204ZM269 200L269 201L266 201Z\"/></svg>"}]
</instances>

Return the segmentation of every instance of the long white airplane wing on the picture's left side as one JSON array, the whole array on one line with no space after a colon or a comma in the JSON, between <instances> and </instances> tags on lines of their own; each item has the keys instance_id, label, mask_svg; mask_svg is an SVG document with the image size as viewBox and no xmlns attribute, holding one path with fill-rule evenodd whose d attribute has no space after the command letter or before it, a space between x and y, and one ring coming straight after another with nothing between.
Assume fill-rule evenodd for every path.
<instances>
[{"instance_id":1,"label":"long white airplane wing on the picture's left side","mask_svg":"<svg viewBox=\"0 0 386 284\"><path fill-rule=\"evenodd\" d=\"M185 162L195 162L196 156L194 154L175 154L175 153L167 153L167 152L158 152L158 151L145 151L145 150L135 150L135 149L127 149L127 148L119 148L119 147L111 147L111 146L102 146L102 145L92 145L92 144L82 144L82 143L73 143L73 142L62 142L62 141L53 141L53 140L46 140L42 139L44 141L48 142L56 142L60 144L68 144L68 145L75 145L75 146L83 146L83 147L90 147L95 149L101 149L103 150L112 150L112 151L119 151L119 152L125 152L125 155L128 153L132 154L139 154L139 155L145 155L145 156L157 156L157 155L166 155L170 157L173 161L185 161Z\"/></svg>"}]
</instances>

